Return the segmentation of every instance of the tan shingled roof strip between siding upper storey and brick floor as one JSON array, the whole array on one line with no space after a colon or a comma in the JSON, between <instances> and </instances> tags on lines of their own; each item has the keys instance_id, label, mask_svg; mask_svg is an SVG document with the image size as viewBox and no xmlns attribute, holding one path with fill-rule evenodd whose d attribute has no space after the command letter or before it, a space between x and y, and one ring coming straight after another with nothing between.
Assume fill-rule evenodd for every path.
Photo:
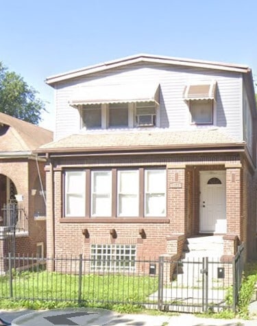
<instances>
[{"instance_id":1,"label":"tan shingled roof strip between siding upper storey and brick floor","mask_svg":"<svg viewBox=\"0 0 257 326\"><path fill-rule=\"evenodd\" d=\"M95 152L147 148L192 148L241 144L218 128L170 130L120 130L84 132L42 145L40 152Z\"/></svg>"}]
</instances>

